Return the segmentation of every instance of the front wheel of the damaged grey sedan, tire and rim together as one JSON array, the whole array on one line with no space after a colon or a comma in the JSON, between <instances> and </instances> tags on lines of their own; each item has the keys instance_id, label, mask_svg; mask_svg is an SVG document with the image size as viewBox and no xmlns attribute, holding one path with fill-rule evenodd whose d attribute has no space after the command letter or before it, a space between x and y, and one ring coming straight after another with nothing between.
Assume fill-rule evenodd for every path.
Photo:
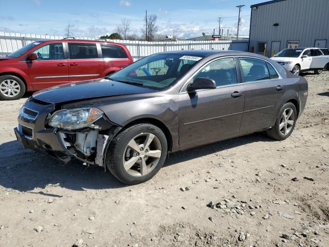
<instances>
[{"instance_id":1,"label":"front wheel of the damaged grey sedan, tire and rim together","mask_svg":"<svg viewBox=\"0 0 329 247\"><path fill-rule=\"evenodd\" d=\"M145 145L147 139L152 140L149 145ZM167 138L161 129L150 123L138 123L126 128L112 140L105 154L105 164L121 182L140 184L153 178L160 170L167 151Z\"/></svg>"}]
</instances>

